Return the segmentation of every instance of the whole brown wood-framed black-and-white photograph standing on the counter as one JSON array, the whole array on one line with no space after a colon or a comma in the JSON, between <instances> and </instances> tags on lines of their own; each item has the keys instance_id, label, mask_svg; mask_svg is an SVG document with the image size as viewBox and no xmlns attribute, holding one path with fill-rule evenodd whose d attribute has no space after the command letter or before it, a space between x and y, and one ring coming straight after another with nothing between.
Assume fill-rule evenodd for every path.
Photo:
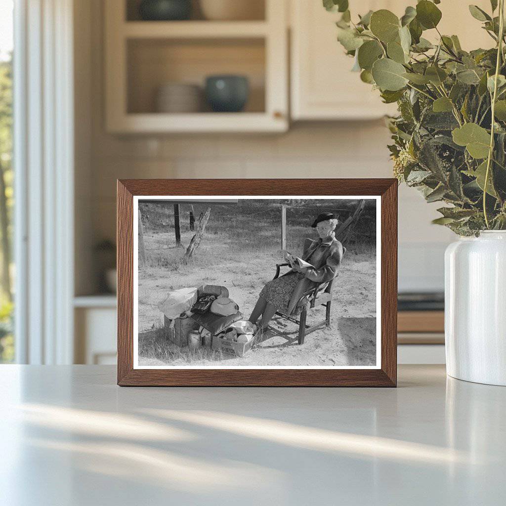
<instances>
[{"instance_id":1,"label":"whole brown wood-framed black-and-white photograph standing on the counter","mask_svg":"<svg viewBox=\"0 0 506 506\"><path fill-rule=\"evenodd\" d=\"M118 385L394 387L397 180L118 180Z\"/></svg>"}]
</instances>

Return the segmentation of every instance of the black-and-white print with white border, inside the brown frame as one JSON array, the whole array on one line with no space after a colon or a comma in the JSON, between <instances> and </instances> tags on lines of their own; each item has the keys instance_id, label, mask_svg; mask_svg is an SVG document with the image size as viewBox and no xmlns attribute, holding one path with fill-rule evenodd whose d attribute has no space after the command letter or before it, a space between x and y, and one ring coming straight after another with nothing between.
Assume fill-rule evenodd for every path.
<instances>
[{"instance_id":1,"label":"black-and-white print with white border, inside the brown frame","mask_svg":"<svg viewBox=\"0 0 506 506\"><path fill-rule=\"evenodd\" d=\"M378 368L380 199L134 198L134 368Z\"/></svg>"}]
</instances>

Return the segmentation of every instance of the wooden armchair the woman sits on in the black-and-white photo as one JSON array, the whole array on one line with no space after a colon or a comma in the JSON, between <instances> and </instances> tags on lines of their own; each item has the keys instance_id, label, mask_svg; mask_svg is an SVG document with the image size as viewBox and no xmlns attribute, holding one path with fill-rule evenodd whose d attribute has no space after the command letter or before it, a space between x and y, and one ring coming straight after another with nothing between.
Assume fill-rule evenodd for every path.
<instances>
[{"instance_id":1,"label":"wooden armchair the woman sits on in the black-and-white photo","mask_svg":"<svg viewBox=\"0 0 506 506\"><path fill-rule=\"evenodd\" d=\"M290 264L276 264L276 275L273 279L279 277L281 267L289 265ZM334 279L328 282L319 283L314 288L311 288L302 294L296 306L300 307L302 305L302 312L299 319L294 318L290 315L283 314L280 311L276 311L277 316L299 325L300 345L304 344L304 338L307 334L310 334L311 332L314 332L315 330L318 330L324 326L330 326L330 305L332 304L332 283ZM325 306L325 319L316 323L315 325L306 325L308 311L317 306Z\"/></svg>"}]
</instances>

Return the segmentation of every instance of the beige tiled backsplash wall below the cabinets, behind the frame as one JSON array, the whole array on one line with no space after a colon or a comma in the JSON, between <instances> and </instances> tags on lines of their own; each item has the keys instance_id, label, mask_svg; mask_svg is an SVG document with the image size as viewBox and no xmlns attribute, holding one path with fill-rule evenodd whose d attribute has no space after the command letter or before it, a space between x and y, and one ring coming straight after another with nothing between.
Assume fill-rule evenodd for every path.
<instances>
[{"instance_id":1,"label":"beige tiled backsplash wall below the cabinets, behind the frame","mask_svg":"<svg viewBox=\"0 0 506 506\"><path fill-rule=\"evenodd\" d=\"M391 177L382 121L293 126L282 135L95 135L93 240L115 236L116 178ZM399 289L443 289L450 231L431 225L438 204L399 188Z\"/></svg>"}]
</instances>

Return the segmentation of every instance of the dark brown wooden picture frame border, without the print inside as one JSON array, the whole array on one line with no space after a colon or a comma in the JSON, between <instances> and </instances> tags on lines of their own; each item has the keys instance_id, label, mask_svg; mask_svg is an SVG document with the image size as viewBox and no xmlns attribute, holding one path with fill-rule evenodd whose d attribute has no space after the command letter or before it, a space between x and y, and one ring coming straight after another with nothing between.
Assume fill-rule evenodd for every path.
<instances>
[{"instance_id":1,"label":"dark brown wooden picture frame border, without the print inside","mask_svg":"<svg viewBox=\"0 0 506 506\"><path fill-rule=\"evenodd\" d=\"M375 196L381 202L381 365L376 368L134 368L134 197ZM265 198L265 197L264 197ZM358 197L357 197L358 198ZM378 215L379 216L379 215ZM120 386L395 387L397 380L396 179L137 179L117 181L117 383ZM376 290L379 287L376 286Z\"/></svg>"}]
</instances>

